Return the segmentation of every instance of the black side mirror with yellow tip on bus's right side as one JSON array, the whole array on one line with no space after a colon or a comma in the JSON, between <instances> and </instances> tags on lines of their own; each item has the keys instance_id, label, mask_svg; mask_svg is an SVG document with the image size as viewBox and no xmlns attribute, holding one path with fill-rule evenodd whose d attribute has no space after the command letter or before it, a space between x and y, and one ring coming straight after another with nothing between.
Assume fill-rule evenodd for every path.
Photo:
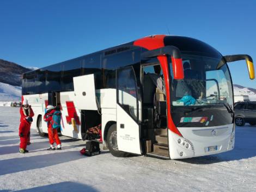
<instances>
[{"instance_id":1,"label":"black side mirror with yellow tip on bus's right side","mask_svg":"<svg viewBox=\"0 0 256 192\"><path fill-rule=\"evenodd\" d=\"M250 79L255 78L253 60L249 55L246 55L246 54L226 55L226 56L224 56L224 58L227 62L233 62L233 61L238 61L238 60L246 60L246 64L247 64L247 68L248 68L248 72L249 72L249 77L250 77Z\"/></svg>"}]
</instances>

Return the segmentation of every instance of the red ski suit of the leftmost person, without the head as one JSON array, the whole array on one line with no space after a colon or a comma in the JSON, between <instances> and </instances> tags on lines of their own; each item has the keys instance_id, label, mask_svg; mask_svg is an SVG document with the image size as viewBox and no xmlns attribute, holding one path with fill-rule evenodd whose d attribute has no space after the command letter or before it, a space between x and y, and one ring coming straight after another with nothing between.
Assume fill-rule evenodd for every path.
<instances>
[{"instance_id":1,"label":"red ski suit of the leftmost person, without the head","mask_svg":"<svg viewBox=\"0 0 256 192\"><path fill-rule=\"evenodd\" d=\"M20 153L27 153L27 144L28 144L28 133L30 131L32 117L25 117L21 120L19 127L19 136L20 136Z\"/></svg>"}]
</instances>

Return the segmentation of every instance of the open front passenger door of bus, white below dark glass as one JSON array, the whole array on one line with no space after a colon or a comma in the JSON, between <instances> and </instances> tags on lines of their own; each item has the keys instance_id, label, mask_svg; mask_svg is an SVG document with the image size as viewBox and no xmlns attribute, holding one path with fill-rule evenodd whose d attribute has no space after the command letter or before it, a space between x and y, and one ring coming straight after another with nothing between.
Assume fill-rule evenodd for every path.
<instances>
[{"instance_id":1,"label":"open front passenger door of bus, white below dark glass","mask_svg":"<svg viewBox=\"0 0 256 192\"><path fill-rule=\"evenodd\" d=\"M118 150L141 154L138 89L132 66L117 70Z\"/></svg>"}]
</instances>

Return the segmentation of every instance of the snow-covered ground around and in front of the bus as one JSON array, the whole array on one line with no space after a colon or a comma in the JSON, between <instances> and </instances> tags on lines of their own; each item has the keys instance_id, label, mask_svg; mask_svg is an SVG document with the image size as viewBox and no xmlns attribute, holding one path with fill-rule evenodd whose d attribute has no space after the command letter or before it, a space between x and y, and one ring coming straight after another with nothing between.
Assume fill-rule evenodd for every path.
<instances>
[{"instance_id":1,"label":"snow-covered ground around and in front of the bus","mask_svg":"<svg viewBox=\"0 0 256 192\"><path fill-rule=\"evenodd\" d=\"M32 132L20 154L19 108L0 107L0 191L256 191L256 127L236 127L230 152L184 160L94 157L83 141L61 137L62 151L46 151L47 138Z\"/></svg>"}]
</instances>

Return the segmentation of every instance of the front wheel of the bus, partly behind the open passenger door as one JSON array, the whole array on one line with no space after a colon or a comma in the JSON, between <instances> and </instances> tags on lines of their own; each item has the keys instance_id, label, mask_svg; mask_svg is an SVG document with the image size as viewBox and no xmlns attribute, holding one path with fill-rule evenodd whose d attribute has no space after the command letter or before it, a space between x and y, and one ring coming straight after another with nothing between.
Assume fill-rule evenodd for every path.
<instances>
[{"instance_id":1,"label":"front wheel of the bus, partly behind the open passenger door","mask_svg":"<svg viewBox=\"0 0 256 192\"><path fill-rule=\"evenodd\" d=\"M107 132L107 146L114 157L128 157L129 153L119 151L117 146L117 124L109 127Z\"/></svg>"}]
</instances>

